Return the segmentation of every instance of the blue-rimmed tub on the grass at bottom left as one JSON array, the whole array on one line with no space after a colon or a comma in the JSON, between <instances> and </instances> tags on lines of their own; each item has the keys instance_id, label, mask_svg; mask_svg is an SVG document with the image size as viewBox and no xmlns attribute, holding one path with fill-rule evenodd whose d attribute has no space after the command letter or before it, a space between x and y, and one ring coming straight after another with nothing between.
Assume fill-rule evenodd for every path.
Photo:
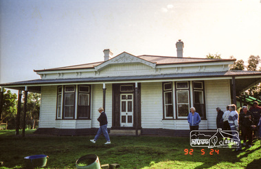
<instances>
[{"instance_id":1,"label":"blue-rimmed tub on the grass at bottom left","mask_svg":"<svg viewBox=\"0 0 261 169\"><path fill-rule=\"evenodd\" d=\"M25 168L45 167L47 164L47 155L31 155L25 157Z\"/></svg>"}]
</instances>

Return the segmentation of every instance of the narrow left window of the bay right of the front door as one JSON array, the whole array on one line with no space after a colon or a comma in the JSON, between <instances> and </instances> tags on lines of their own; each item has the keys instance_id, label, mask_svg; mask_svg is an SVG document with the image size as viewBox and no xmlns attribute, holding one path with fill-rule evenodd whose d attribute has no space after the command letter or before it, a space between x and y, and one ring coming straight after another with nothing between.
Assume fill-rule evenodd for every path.
<instances>
[{"instance_id":1,"label":"narrow left window of the bay right of the front door","mask_svg":"<svg viewBox=\"0 0 261 169\"><path fill-rule=\"evenodd\" d=\"M164 118L173 118L172 82L163 83Z\"/></svg>"}]
</instances>

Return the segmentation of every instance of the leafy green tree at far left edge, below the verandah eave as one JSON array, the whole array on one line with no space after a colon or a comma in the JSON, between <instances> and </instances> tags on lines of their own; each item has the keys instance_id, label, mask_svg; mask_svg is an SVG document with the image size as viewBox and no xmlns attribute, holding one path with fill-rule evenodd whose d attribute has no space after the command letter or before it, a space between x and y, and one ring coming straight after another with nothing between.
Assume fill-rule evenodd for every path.
<instances>
[{"instance_id":1,"label":"leafy green tree at far left edge, below the verandah eave","mask_svg":"<svg viewBox=\"0 0 261 169\"><path fill-rule=\"evenodd\" d=\"M3 89L3 107L1 122L8 122L8 128L15 127L17 95L10 90Z\"/></svg>"}]
</instances>

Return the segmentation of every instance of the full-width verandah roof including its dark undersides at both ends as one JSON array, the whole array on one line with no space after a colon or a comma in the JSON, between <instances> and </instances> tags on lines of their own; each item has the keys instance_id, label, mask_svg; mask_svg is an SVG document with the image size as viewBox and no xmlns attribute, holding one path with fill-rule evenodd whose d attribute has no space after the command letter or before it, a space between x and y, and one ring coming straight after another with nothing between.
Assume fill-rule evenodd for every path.
<instances>
[{"instance_id":1,"label":"full-width verandah roof including its dark undersides at both ends","mask_svg":"<svg viewBox=\"0 0 261 169\"><path fill-rule=\"evenodd\" d=\"M227 70L221 72L198 72L198 73L172 73L160 75L137 75L137 76L117 76L117 77L82 77L68 79L34 79L29 81L17 81L13 83L2 83L0 86L16 90L24 90L24 86L29 91L41 92L43 85L58 85L65 83L102 83L120 81L151 81L151 80L170 80L170 79L192 79L192 78L211 78L211 77L240 77L236 79L236 90L242 92L245 88L250 88L255 83L260 83L261 72L245 70ZM251 78L249 78L251 77ZM245 80L247 79L247 81ZM246 89L247 90L247 89Z\"/></svg>"}]
</instances>

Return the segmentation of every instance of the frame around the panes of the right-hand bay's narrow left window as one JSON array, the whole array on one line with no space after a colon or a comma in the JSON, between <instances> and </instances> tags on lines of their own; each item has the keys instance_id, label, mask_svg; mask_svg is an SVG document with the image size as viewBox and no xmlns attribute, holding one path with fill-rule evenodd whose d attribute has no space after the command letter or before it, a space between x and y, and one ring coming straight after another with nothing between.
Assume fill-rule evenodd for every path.
<instances>
[{"instance_id":1,"label":"frame around the panes of the right-hand bay's narrow left window","mask_svg":"<svg viewBox=\"0 0 261 169\"><path fill-rule=\"evenodd\" d=\"M166 89L165 86L167 84L171 85L171 88ZM170 92L171 93L171 104L166 104L166 100L165 100L165 94ZM168 82L163 82L162 83L162 103L163 103L163 119L174 119L174 104L173 104L173 83L172 81L168 81ZM166 114L166 105L172 105L172 116L167 116Z\"/></svg>"}]
</instances>

